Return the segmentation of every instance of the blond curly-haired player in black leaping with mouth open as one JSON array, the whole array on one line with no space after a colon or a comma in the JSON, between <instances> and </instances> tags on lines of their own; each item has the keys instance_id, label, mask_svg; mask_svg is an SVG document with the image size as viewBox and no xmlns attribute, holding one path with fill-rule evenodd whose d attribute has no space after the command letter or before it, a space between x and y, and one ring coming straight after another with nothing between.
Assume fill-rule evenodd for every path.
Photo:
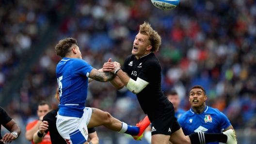
<instances>
[{"instance_id":1,"label":"blond curly-haired player in black leaping with mouth open","mask_svg":"<svg viewBox=\"0 0 256 144\"><path fill-rule=\"evenodd\" d=\"M160 35L144 22L140 25L132 47L132 55L128 56L123 68L111 59L103 65L103 71L116 74L111 84L116 89L124 86L137 95L138 101L147 116L137 124L139 132L135 140L141 140L146 127L152 123L151 144L205 144L222 142L237 144L235 131L223 133L197 132L185 136L175 117L173 104L163 95L161 88L161 66L153 52L159 50ZM149 120L150 121L149 121ZM128 128L129 129L129 128Z\"/></svg>"}]
</instances>

